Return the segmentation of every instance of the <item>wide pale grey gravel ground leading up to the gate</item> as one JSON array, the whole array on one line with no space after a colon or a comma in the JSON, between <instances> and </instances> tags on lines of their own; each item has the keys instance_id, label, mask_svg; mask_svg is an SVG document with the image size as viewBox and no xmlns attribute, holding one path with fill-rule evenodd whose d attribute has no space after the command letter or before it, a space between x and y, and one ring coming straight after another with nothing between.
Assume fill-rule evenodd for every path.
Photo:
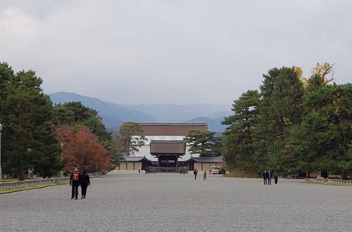
<instances>
[{"instance_id":1,"label":"wide pale grey gravel ground leading up to the gate","mask_svg":"<svg viewBox=\"0 0 352 232\"><path fill-rule=\"evenodd\" d=\"M274 182L274 181L272 181ZM352 231L352 188L193 174L108 174L0 195L0 231Z\"/></svg>"}]
</instances>

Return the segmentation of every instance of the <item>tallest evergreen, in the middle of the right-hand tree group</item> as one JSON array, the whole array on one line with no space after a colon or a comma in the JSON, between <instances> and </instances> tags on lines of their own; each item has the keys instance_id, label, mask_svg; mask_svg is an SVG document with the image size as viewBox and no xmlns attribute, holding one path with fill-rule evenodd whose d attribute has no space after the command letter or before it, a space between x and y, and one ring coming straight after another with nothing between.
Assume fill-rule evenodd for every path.
<instances>
[{"instance_id":1,"label":"tallest evergreen, in the middle of the right-hand tree group","mask_svg":"<svg viewBox=\"0 0 352 232\"><path fill-rule=\"evenodd\" d=\"M301 122L303 82L295 67L274 68L263 77L255 150L258 157L266 157L263 167L282 170L294 164L286 153L286 139L288 129Z\"/></svg>"}]
</instances>

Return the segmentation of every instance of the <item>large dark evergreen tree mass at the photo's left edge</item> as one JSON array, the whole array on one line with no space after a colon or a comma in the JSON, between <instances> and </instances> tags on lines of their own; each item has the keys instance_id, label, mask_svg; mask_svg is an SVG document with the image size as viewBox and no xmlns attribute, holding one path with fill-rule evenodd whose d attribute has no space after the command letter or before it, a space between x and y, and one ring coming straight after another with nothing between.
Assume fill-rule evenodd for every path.
<instances>
[{"instance_id":1,"label":"large dark evergreen tree mass at the photo's left edge","mask_svg":"<svg viewBox=\"0 0 352 232\"><path fill-rule=\"evenodd\" d=\"M49 97L42 93L42 79L35 72L21 71L13 74L11 67L0 64L2 155L5 172L16 173L25 179L24 169L34 168L43 177L56 174L61 169L61 148L51 124L52 106Z\"/></svg>"}]
</instances>

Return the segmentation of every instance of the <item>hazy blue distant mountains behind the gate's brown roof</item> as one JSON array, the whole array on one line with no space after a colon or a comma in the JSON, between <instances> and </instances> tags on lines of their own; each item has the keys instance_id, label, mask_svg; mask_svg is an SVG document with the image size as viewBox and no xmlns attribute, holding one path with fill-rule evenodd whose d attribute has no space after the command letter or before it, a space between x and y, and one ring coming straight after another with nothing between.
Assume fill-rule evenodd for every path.
<instances>
[{"instance_id":1,"label":"hazy blue distant mountains behind the gate's brown roof","mask_svg":"<svg viewBox=\"0 0 352 232\"><path fill-rule=\"evenodd\" d=\"M222 132L224 117L231 115L224 105L125 105L102 101L75 93L58 92L49 95L53 103L80 101L86 107L97 110L108 129L118 130L122 122L207 122L208 130Z\"/></svg>"}]
</instances>

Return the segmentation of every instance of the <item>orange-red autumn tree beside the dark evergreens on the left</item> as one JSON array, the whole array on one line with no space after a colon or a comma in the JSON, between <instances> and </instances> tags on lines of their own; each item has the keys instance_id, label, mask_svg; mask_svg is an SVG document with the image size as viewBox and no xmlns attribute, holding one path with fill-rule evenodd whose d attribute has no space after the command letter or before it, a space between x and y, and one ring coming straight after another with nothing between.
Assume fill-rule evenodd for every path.
<instances>
[{"instance_id":1,"label":"orange-red autumn tree beside the dark evergreens on the left","mask_svg":"<svg viewBox=\"0 0 352 232\"><path fill-rule=\"evenodd\" d=\"M64 172L71 172L75 166L87 171L109 169L108 151L88 127L60 127L56 130L56 134L63 143L63 159L67 160Z\"/></svg>"}]
</instances>

